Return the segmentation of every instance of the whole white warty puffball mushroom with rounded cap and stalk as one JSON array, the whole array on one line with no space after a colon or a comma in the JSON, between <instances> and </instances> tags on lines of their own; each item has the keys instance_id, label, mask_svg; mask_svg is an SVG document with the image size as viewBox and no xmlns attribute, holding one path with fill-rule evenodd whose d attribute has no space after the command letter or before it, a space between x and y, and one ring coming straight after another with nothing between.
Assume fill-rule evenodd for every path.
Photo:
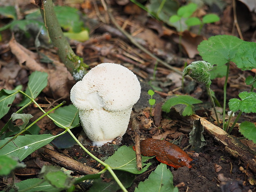
<instances>
[{"instance_id":1,"label":"whole white warty puffball mushroom with rounded cap and stalk","mask_svg":"<svg viewBox=\"0 0 256 192\"><path fill-rule=\"evenodd\" d=\"M101 146L123 136L140 89L135 74L114 63L95 66L73 86L70 99L92 145Z\"/></svg>"}]
</instances>

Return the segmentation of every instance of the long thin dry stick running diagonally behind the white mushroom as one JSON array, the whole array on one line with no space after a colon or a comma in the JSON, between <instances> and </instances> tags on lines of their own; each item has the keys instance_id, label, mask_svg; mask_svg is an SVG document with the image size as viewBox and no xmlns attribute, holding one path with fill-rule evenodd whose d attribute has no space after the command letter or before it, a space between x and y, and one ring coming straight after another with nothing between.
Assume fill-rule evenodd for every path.
<instances>
[{"instance_id":1,"label":"long thin dry stick running diagonally behind the white mushroom","mask_svg":"<svg viewBox=\"0 0 256 192\"><path fill-rule=\"evenodd\" d=\"M107 13L109 14L109 17L112 21L112 23L116 26L116 28L118 28L129 40L131 43L133 43L136 47L138 47L140 50L142 50L143 52L145 52L147 55L149 55L150 57L156 59L157 62L161 63L162 65L166 66L168 69L171 69L172 71L175 71L176 73L178 73L179 75L182 76L182 71L179 71L178 69L175 69L175 67L169 65L168 63L164 62L163 60L159 59L158 57L156 57L155 55L153 55L149 50L145 49L145 47L143 47L142 45L140 45L139 43L136 42L136 40L126 31L124 31L121 26L119 26L119 24L116 23L115 18L113 17L113 15L111 14L111 12L109 11L109 9L107 8L106 4L104 3L104 1L102 0L102 4L104 5L104 9L105 11L107 11Z\"/></svg>"}]
</instances>

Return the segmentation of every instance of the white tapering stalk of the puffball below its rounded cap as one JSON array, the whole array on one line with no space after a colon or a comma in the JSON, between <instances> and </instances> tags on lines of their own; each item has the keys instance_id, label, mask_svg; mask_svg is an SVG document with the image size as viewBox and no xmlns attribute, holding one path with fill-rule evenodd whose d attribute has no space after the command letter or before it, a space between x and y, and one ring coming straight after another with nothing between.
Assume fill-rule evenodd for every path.
<instances>
[{"instance_id":1,"label":"white tapering stalk of the puffball below its rounded cap","mask_svg":"<svg viewBox=\"0 0 256 192\"><path fill-rule=\"evenodd\" d=\"M105 109L79 111L81 125L94 146L111 142L126 133L132 108L110 112Z\"/></svg>"}]
</instances>

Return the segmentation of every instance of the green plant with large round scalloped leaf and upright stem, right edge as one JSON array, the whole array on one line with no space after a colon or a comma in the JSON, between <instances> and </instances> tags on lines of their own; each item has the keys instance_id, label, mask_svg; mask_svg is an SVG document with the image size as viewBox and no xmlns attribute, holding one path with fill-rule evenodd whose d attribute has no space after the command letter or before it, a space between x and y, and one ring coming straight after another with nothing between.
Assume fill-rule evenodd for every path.
<instances>
[{"instance_id":1,"label":"green plant with large round scalloped leaf and upright stem, right edge","mask_svg":"<svg viewBox=\"0 0 256 192\"><path fill-rule=\"evenodd\" d=\"M199 55L211 63L216 65L218 69L220 67L226 68L226 78L224 83L224 101L223 101L223 130L231 133L235 124L237 123L241 114L254 112L256 113L256 94L252 92L256 87L256 76L249 76L246 78L245 83L251 85L250 92L239 93L239 99L231 99L228 103L230 110L233 112L239 111L234 123L229 129L229 123L225 123L225 109L226 109L226 92L227 92L227 82L229 75L230 62L234 62L237 67L241 70L251 70L256 69L256 43L246 42L235 36L219 35L209 38L209 40L204 40L198 46ZM221 71L221 70L216 70ZM220 75L220 74L218 74ZM223 75L223 74L222 74ZM256 143L256 126L254 123L245 121L240 124L239 131L248 139L253 140Z\"/></svg>"}]
</instances>

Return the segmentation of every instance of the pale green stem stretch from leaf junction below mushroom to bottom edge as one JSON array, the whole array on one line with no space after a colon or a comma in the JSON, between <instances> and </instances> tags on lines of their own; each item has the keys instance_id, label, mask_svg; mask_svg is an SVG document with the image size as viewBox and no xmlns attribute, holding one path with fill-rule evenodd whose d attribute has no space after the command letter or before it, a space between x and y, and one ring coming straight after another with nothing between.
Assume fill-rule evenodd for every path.
<instances>
[{"instance_id":1,"label":"pale green stem stretch from leaf junction below mushroom to bottom edge","mask_svg":"<svg viewBox=\"0 0 256 192\"><path fill-rule=\"evenodd\" d=\"M71 130L69 128L66 128L66 131L69 132L69 134L71 135L71 137L73 137L73 139L78 143L78 145L88 154L90 155L93 159L95 159L96 161L98 161L100 164L102 164L105 168L109 171L109 173L113 176L113 178L116 180L116 183L118 183L119 187L121 187L121 189L124 192L128 192L126 190L126 188L123 186L123 184L121 183L121 181L119 180L119 178L116 176L116 174L114 173L114 171L111 169L111 167L104 163L104 161L101 161L100 159L98 159L96 156L94 156L93 154L91 154L82 144L81 142L78 141L78 139L75 137L75 135L73 135L73 133L71 132ZM101 172L100 172L101 173Z\"/></svg>"}]
</instances>

